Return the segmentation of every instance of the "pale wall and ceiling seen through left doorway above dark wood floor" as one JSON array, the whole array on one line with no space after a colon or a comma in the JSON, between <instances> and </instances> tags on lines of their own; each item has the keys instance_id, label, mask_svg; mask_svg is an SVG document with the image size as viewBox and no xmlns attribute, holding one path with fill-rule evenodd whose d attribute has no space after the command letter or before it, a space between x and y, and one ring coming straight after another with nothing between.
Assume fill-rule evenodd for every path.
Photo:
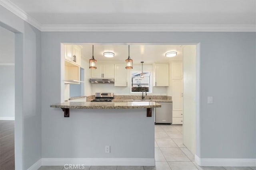
<instances>
[{"instance_id":1,"label":"pale wall and ceiling seen through left doorway above dark wood floor","mask_svg":"<svg viewBox=\"0 0 256 170\"><path fill-rule=\"evenodd\" d=\"M14 38L0 27L0 120L15 119Z\"/></svg>"}]
</instances>

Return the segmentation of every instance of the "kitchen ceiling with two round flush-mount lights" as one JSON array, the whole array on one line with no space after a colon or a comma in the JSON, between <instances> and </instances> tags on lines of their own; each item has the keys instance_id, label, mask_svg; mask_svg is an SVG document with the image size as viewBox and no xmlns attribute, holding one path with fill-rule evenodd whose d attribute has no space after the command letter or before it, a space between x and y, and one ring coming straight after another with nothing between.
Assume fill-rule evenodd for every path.
<instances>
[{"instance_id":1,"label":"kitchen ceiling with two round flush-mount lights","mask_svg":"<svg viewBox=\"0 0 256 170\"><path fill-rule=\"evenodd\" d=\"M80 44L81 45L81 44ZM92 58L92 44L81 45L81 56L90 59ZM130 45L130 57L134 64L152 64L155 62L168 62L170 60L182 60L182 45ZM176 51L176 57L165 57L165 53ZM113 52L113 58L103 56L104 52ZM128 58L128 45L94 45L94 58L98 62L122 62Z\"/></svg>"}]
</instances>

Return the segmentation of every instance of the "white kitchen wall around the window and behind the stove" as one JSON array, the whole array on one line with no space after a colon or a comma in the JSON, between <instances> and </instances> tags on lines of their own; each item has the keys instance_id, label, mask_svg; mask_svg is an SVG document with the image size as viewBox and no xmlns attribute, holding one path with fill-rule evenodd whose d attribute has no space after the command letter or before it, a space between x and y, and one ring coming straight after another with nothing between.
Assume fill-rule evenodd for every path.
<instances>
[{"instance_id":1,"label":"white kitchen wall around the window and behind the stove","mask_svg":"<svg viewBox=\"0 0 256 170\"><path fill-rule=\"evenodd\" d=\"M145 62L146 63L146 62ZM95 94L97 92L113 92L114 95L142 95L141 93L130 93L130 72L131 71L138 71L141 72L141 65L140 64L134 64L132 70L127 70L128 72L128 86L119 87L114 86L114 84L92 84L92 94ZM150 71L152 74L152 80L153 80L153 65L152 64L143 64L143 71ZM130 82L130 83L129 83ZM153 82L152 82L153 83ZM153 84L152 84L153 85ZM149 95L166 95L166 89L167 87L153 87L153 92L148 93Z\"/></svg>"}]
</instances>

